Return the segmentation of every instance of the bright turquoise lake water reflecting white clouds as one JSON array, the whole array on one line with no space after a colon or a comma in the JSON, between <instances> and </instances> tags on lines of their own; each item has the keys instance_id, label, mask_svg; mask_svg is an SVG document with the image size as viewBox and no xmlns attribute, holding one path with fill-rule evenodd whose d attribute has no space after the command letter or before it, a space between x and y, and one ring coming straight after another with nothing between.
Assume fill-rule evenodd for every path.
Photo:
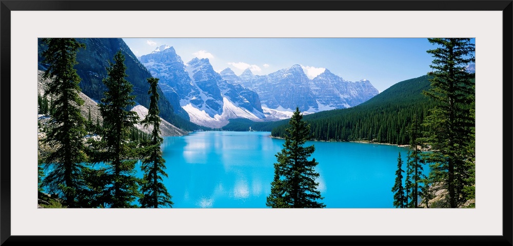
<instances>
[{"instance_id":1,"label":"bright turquoise lake water reflecting white clouds","mask_svg":"<svg viewBox=\"0 0 513 246\"><path fill-rule=\"evenodd\" d=\"M165 137L169 178L164 183L174 208L265 208L274 156L285 142L269 132L205 131ZM384 144L308 141L319 162L318 190L327 208L391 208L398 153ZM137 176L142 177L140 163ZM425 167L427 168L427 167ZM405 164L403 164L405 169Z\"/></svg>"}]
</instances>

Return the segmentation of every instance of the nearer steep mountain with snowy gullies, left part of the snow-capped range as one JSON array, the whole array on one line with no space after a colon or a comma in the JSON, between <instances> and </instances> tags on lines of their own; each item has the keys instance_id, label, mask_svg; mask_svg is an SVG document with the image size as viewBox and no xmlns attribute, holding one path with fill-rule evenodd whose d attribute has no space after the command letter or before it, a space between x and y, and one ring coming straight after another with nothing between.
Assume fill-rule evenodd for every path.
<instances>
[{"instance_id":1,"label":"nearer steep mountain with snowy gullies, left part of the snow-capped range","mask_svg":"<svg viewBox=\"0 0 513 246\"><path fill-rule=\"evenodd\" d=\"M140 61L159 78L164 96L175 102L174 107L183 108L193 123L222 127L233 118L265 118L258 94L223 80L208 59L194 58L184 64L173 47L163 45Z\"/></svg>"}]
</instances>

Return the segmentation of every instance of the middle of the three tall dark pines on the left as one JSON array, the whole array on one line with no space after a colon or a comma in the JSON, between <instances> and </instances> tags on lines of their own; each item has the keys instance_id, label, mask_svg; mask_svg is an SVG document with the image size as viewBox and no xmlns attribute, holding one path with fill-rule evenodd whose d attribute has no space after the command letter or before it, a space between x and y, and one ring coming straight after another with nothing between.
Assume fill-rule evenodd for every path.
<instances>
[{"instance_id":1,"label":"middle of the three tall dark pines on the left","mask_svg":"<svg viewBox=\"0 0 513 246\"><path fill-rule=\"evenodd\" d=\"M101 197L110 207L134 207L132 202L140 197L139 179L134 174L138 153L136 144L129 140L130 130L139 116L129 110L135 105L135 96L130 94L133 85L125 79L125 56L118 51L113 60L106 68L107 78L103 83L107 90L99 104L104 128L100 146L106 150L100 160L109 166L104 177L108 185Z\"/></svg>"}]
</instances>

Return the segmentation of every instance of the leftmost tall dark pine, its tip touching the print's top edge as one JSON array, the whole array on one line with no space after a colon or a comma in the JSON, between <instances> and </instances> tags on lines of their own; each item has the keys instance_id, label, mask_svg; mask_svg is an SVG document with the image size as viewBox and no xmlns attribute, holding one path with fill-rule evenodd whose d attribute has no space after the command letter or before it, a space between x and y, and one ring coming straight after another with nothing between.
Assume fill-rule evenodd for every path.
<instances>
[{"instance_id":1,"label":"leftmost tall dark pine, its tip touching the print's top edge","mask_svg":"<svg viewBox=\"0 0 513 246\"><path fill-rule=\"evenodd\" d=\"M73 68L76 52L85 45L75 39L44 39L48 49L43 51L44 63L48 69L43 79L49 79L43 98L51 96L51 115L53 118L50 132L44 140L54 146L54 152L44 160L49 171L42 181L48 192L63 196L67 207L76 207L76 196L84 188L81 178L86 162L84 143L86 134L85 119L80 112L84 101L78 96L80 77Z\"/></svg>"}]
</instances>

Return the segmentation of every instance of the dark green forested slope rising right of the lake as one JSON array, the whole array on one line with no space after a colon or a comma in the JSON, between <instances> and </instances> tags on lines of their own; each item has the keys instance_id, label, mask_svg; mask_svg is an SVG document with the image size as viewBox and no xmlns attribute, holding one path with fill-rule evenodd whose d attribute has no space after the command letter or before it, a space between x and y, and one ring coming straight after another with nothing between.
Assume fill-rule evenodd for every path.
<instances>
[{"instance_id":1,"label":"dark green forested slope rising right of the lake","mask_svg":"<svg viewBox=\"0 0 513 246\"><path fill-rule=\"evenodd\" d=\"M435 106L422 94L430 87L428 76L399 82L358 106L314 113L304 117L311 124L314 140L372 141L407 144L411 117L420 122ZM272 129L271 135L282 137L286 121Z\"/></svg>"}]
</instances>

